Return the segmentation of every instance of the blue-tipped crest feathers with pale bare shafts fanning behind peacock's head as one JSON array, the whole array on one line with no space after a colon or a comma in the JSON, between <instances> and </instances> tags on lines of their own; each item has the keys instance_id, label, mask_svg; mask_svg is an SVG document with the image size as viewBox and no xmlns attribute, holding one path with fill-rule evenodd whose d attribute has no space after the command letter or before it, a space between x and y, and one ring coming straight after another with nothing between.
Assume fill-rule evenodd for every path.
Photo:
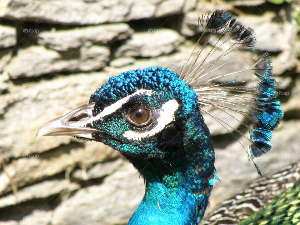
<instances>
[{"instance_id":1,"label":"blue-tipped crest feathers with pale bare shafts fanning behind peacock's head","mask_svg":"<svg viewBox=\"0 0 300 225\"><path fill-rule=\"evenodd\" d=\"M271 149L272 144L270 141L272 131L277 128L279 121L283 117L280 102L277 100L276 80L272 77L271 59L267 54L263 54L252 66L245 66L245 68L241 70L225 75L222 75L222 72L220 72L220 76L208 80L215 81L215 83L207 83L207 79L205 79L205 76L209 74L207 71L215 72L226 64L224 63L221 66L214 67L214 64L217 64L216 62L219 61L220 58L229 55L235 49L255 53L257 51L256 38L254 37L252 28L244 27L223 10L216 10L210 17L202 17L201 24L204 27L204 33L200 39L205 36L209 38L213 34L213 32L211 32L212 30L219 34L220 37L214 44L215 48L208 53L200 65L197 65L196 62L198 58L200 58L200 53L203 51L203 48L200 48L196 54L196 58L191 60L192 65L186 67L186 64L180 77L197 91L198 102L203 112L209 113L205 107L210 106L220 109L233 119L236 119L235 113L240 113L251 121L250 123L239 122L245 124L249 129L249 138L247 138L245 134L241 134L251 142L249 156L255 164L254 158L267 153ZM225 50L216 56L214 62L205 66L207 58L212 57L212 55L217 52L218 47L224 44L229 44L229 47L225 47ZM251 61L251 58L249 61ZM257 77L256 83L247 86L244 85L245 83L242 80L235 80L239 77L239 73L247 72L252 72L252 74ZM218 78L229 77L233 74L237 75L233 78L228 78L228 81L218 82L217 80ZM206 88L207 86L210 88ZM240 95L236 95L233 92L239 93ZM249 94L251 96L242 96L242 94ZM214 116L212 115L212 117ZM221 124L228 125L221 119L214 118ZM228 126L232 128L230 125ZM262 176L258 166L256 164L255 166L258 173Z\"/></svg>"}]
</instances>

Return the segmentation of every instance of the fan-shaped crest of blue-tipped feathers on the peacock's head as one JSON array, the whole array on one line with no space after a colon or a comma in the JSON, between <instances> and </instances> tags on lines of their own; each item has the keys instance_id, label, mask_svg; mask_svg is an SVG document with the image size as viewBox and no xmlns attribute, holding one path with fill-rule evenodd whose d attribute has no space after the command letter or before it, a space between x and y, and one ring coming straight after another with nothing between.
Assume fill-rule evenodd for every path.
<instances>
[{"instance_id":1,"label":"fan-shaped crest of blue-tipped feathers on the peacock's head","mask_svg":"<svg viewBox=\"0 0 300 225\"><path fill-rule=\"evenodd\" d=\"M195 89L202 113L212 116L227 130L237 129L239 135L250 142L249 145L239 140L262 176L254 158L272 148L272 131L283 117L276 80L272 77L271 58L263 54L254 60L257 53L254 31L223 10L202 16L200 24L204 32L197 44L202 47L193 48L180 78ZM212 47L205 52L207 44ZM244 57L241 68L234 62L237 58L234 54ZM224 73L228 69L229 72ZM216 116L216 111L222 111L226 118ZM243 124L248 132L234 127L234 122Z\"/></svg>"}]
</instances>

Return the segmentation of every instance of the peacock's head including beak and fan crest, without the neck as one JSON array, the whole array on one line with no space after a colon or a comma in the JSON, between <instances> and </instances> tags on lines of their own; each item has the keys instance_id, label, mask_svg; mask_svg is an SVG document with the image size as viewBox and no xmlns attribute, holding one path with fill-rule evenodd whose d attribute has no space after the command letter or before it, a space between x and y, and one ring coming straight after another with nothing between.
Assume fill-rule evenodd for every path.
<instances>
[{"instance_id":1,"label":"peacock's head including beak and fan crest, without the neck","mask_svg":"<svg viewBox=\"0 0 300 225\"><path fill-rule=\"evenodd\" d=\"M267 153L272 131L283 117L270 57L264 54L252 61L254 56L247 55L251 57L243 66L224 73L222 68L228 70L234 58L225 57L235 50L256 52L254 32L223 10L202 16L200 23L204 32L199 42L209 43L213 34L219 39L206 55L205 45L193 48L180 75L168 68L150 67L109 78L92 94L89 104L46 123L37 136L71 135L103 142L129 159L151 154L168 159L180 150L188 153L192 146L199 152L212 148L203 112L225 128L234 128L211 113L213 108L248 128L248 134L238 132L250 143L252 161ZM241 80L246 75L253 81ZM203 155L194 157L199 160Z\"/></svg>"}]
</instances>

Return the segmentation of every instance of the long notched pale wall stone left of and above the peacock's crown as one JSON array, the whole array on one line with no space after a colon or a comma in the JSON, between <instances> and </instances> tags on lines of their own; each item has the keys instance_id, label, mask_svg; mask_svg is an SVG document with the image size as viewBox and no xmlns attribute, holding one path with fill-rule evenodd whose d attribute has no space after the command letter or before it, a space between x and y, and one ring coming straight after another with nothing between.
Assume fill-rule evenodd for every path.
<instances>
[{"instance_id":1,"label":"long notched pale wall stone left of and above the peacock's crown","mask_svg":"<svg viewBox=\"0 0 300 225\"><path fill-rule=\"evenodd\" d=\"M110 56L109 48L104 46L89 44L76 50L78 50L78 58L72 57L75 50L63 58L58 52L44 46L20 49L5 67L4 73L8 73L11 78L15 79L60 72L91 71L104 67ZM28 55L31 57L28 58Z\"/></svg>"}]
</instances>

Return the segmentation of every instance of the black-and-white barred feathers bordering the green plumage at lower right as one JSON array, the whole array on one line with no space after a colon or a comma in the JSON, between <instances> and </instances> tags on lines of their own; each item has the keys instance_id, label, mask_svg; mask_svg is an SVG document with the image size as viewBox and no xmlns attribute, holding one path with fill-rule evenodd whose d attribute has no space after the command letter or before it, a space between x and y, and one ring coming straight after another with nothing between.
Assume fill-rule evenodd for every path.
<instances>
[{"instance_id":1,"label":"black-and-white barred feathers bordering the green plumage at lower right","mask_svg":"<svg viewBox=\"0 0 300 225\"><path fill-rule=\"evenodd\" d=\"M199 225L235 225L248 217L252 218L254 213L260 213L261 208L272 204L272 200L279 196L284 190L291 187L299 189L299 181L300 161L282 168L280 171L269 177L260 178L249 184L249 186L241 193L238 193L230 199L224 200L216 209L204 217ZM298 199L299 198L300 196ZM298 212L300 212L300 208L298 208ZM280 222L283 221L275 222L279 223L274 224L281 224Z\"/></svg>"}]
</instances>

